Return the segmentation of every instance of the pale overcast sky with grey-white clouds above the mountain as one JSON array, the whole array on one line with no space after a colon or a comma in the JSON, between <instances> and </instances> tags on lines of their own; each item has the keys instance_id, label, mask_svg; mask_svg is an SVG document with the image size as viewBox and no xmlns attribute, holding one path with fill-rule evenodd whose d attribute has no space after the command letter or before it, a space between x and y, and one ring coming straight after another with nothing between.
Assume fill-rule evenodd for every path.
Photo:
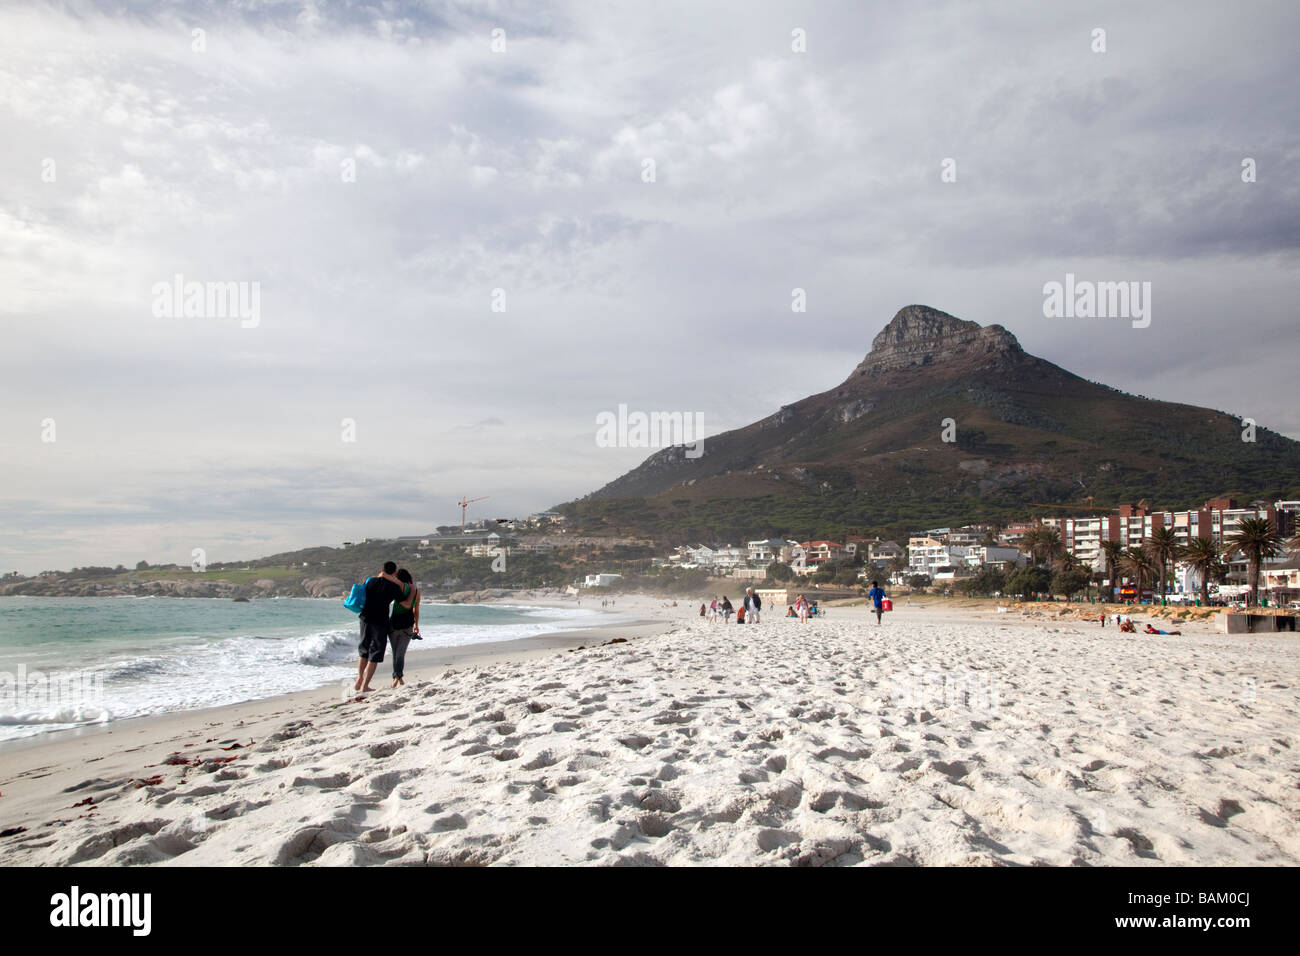
<instances>
[{"instance_id":1,"label":"pale overcast sky with grey-white clouds above the mountain","mask_svg":"<svg viewBox=\"0 0 1300 956\"><path fill-rule=\"evenodd\" d=\"M910 303L1300 438L1297 31L1284 3L5 4L0 571L542 510L654 450L602 412L749 424ZM1067 273L1150 282L1150 324L1044 315Z\"/></svg>"}]
</instances>

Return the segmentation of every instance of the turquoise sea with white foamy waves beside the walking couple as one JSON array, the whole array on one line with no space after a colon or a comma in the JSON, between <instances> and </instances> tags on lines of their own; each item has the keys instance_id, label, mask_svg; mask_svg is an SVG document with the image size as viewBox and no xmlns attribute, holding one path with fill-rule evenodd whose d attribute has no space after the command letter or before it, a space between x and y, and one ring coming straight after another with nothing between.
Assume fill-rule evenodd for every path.
<instances>
[{"instance_id":1,"label":"turquoise sea with white foamy waves beside the walking couple","mask_svg":"<svg viewBox=\"0 0 1300 956\"><path fill-rule=\"evenodd\" d=\"M577 607L425 602L412 650L598 619L608 622ZM335 600L0 597L0 741L342 682L356 676L356 617Z\"/></svg>"}]
</instances>

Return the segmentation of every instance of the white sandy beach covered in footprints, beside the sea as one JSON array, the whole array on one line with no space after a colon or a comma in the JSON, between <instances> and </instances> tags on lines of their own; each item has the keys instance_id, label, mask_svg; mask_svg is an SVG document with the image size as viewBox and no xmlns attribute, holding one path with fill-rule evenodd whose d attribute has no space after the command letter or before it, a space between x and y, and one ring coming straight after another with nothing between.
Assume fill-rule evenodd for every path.
<instances>
[{"instance_id":1,"label":"white sandy beach covered in footprints, beside the sea","mask_svg":"<svg viewBox=\"0 0 1300 956\"><path fill-rule=\"evenodd\" d=\"M0 753L0 864L1300 862L1296 637L638 601L673 623Z\"/></svg>"}]
</instances>

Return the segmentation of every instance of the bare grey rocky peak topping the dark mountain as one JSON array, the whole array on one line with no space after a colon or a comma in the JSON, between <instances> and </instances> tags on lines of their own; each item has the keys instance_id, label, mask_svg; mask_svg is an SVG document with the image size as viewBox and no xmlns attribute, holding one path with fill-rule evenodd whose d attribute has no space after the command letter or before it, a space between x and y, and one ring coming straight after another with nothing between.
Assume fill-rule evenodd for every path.
<instances>
[{"instance_id":1,"label":"bare grey rocky peak topping the dark mountain","mask_svg":"<svg viewBox=\"0 0 1300 956\"><path fill-rule=\"evenodd\" d=\"M854 369L854 376L958 358L996 362L1020 351L1015 336L1001 325L980 325L930 306L904 306L871 341L871 351Z\"/></svg>"}]
</instances>

